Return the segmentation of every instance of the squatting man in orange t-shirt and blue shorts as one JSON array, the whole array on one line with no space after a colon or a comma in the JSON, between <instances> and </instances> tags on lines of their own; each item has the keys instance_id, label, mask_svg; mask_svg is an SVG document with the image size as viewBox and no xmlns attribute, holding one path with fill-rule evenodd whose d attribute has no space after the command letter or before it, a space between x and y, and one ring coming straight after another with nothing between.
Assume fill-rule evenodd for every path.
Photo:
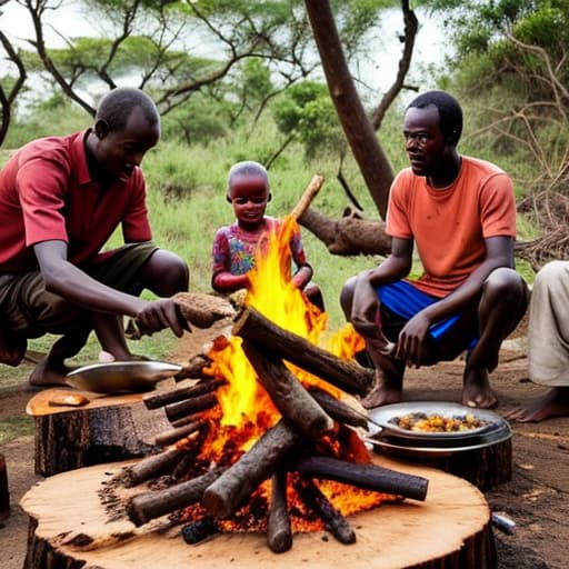
<instances>
[{"instance_id":1,"label":"squatting man in orange t-shirt and blue shorts","mask_svg":"<svg viewBox=\"0 0 569 569\"><path fill-rule=\"evenodd\" d=\"M460 156L458 101L417 97L403 121L411 167L395 179L386 232L391 254L351 278L340 301L376 367L367 408L402 400L406 366L455 359L468 350L462 403L491 408L489 373L502 340L523 316L528 292L515 270L516 202L497 166ZM423 273L409 279L413 246Z\"/></svg>"}]
</instances>

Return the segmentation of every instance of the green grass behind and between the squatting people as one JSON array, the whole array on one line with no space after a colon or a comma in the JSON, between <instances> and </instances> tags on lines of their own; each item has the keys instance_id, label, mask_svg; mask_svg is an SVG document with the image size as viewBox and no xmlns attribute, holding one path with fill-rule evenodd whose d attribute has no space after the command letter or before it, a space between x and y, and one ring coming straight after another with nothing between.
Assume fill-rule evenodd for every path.
<instances>
[{"instance_id":1,"label":"green grass behind and between the squatting people","mask_svg":"<svg viewBox=\"0 0 569 569\"><path fill-rule=\"evenodd\" d=\"M58 114L53 112L53 116ZM61 112L59 112L61 114ZM58 116L59 116L58 114ZM32 120L12 134L4 144L21 142L26 139L42 136L53 121L44 123ZM84 116L73 112L66 114L61 126L67 131L84 128ZM59 123L58 123L59 128ZM194 291L209 292L211 244L216 230L233 221L231 207L226 201L226 180L229 168L238 160L250 159L266 162L279 146L279 133L270 120L262 120L250 132L236 129L214 143L188 147L174 140L162 140L151 150L142 163L148 184L148 207L154 239L160 247L180 254L190 267L190 288ZM59 130L58 130L59 132ZM62 133L62 132L61 132ZM400 117L390 112L385 119L380 132L380 143L392 162L393 171L407 166L400 136ZM468 153L469 149L461 148ZM6 160L8 152L0 154ZM491 157L486 157L491 159ZM1 162L0 162L1 163ZM312 207L323 214L338 218L342 214L349 200L337 180L338 157L320 156L308 160L300 144L290 146L269 170L269 179L273 199L267 213L282 217L296 204L305 188L315 173L325 177L325 184L316 197ZM363 207L363 214L377 218L378 213L371 200L361 173L349 153L342 166L342 173L351 191ZM525 220L520 220L523 237L531 237L533 229ZM329 317L329 330L340 327L343 315L339 306L339 293L345 281L363 269L376 266L380 259L372 257L337 257L328 252L326 247L309 231L302 230L302 239L309 262L315 269L313 280L322 289ZM109 246L121 243L120 232L110 240ZM532 280L532 271L527 263L519 263L521 272ZM150 298L147 295L147 298ZM47 351L52 337L30 341L30 349ZM176 345L170 332L161 332L131 345L137 353L149 357L161 357ZM93 337L88 346L76 358L78 363L91 362L98 356L98 345ZM10 372L19 373L18 368Z\"/></svg>"}]
</instances>

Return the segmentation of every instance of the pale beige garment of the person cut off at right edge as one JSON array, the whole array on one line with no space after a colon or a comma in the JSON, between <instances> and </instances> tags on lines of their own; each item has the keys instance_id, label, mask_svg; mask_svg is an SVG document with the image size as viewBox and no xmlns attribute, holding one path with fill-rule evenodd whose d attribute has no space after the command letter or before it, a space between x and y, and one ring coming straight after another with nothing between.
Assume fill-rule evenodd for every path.
<instances>
[{"instance_id":1,"label":"pale beige garment of the person cut off at right edge","mask_svg":"<svg viewBox=\"0 0 569 569\"><path fill-rule=\"evenodd\" d=\"M569 387L569 261L551 261L537 273L528 340L531 381Z\"/></svg>"}]
</instances>

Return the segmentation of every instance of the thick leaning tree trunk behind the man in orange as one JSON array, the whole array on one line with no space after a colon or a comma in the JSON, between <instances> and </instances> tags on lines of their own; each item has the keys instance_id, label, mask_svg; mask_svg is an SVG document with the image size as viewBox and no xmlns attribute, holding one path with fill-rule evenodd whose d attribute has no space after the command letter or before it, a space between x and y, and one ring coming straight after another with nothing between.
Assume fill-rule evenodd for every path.
<instances>
[{"instance_id":1,"label":"thick leaning tree trunk behind the man in orange","mask_svg":"<svg viewBox=\"0 0 569 569\"><path fill-rule=\"evenodd\" d=\"M330 97L336 106L346 138L379 214L381 219L386 219L393 171L379 146L373 127L353 84L330 2L328 0L307 0L305 6L320 52Z\"/></svg>"}]
</instances>

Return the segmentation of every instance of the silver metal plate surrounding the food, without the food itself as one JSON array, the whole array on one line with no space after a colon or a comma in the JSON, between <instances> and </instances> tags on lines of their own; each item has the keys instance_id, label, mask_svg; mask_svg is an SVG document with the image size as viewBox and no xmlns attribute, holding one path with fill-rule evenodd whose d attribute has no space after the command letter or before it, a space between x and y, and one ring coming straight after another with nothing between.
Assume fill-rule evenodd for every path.
<instances>
[{"instance_id":1,"label":"silver metal plate surrounding the food, without the food itself","mask_svg":"<svg viewBox=\"0 0 569 569\"><path fill-rule=\"evenodd\" d=\"M397 425L397 419L413 413L425 413L426 416L440 415L441 417L463 418L472 415L479 419L482 425L477 428L463 431L449 432L425 432L403 429ZM448 440L456 441L461 439L472 439L480 435L490 432L501 427L506 421L502 417L488 409L473 409L459 403L447 401L409 401L403 403L386 405L369 411L369 432L371 436L381 435L395 436L402 439L433 441ZM378 428L380 426L380 428Z\"/></svg>"}]
</instances>

